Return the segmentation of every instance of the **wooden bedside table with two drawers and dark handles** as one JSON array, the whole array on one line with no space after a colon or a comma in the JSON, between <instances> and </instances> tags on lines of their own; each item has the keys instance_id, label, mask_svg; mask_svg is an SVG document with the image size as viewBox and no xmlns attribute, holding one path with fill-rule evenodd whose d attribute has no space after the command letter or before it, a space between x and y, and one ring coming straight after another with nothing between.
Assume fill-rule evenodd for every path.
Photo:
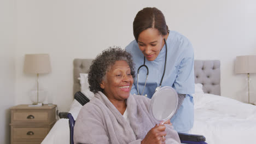
<instances>
[{"instance_id":1,"label":"wooden bedside table with two drawers and dark handles","mask_svg":"<svg viewBox=\"0 0 256 144\"><path fill-rule=\"evenodd\" d=\"M11 107L11 144L41 143L56 122L55 109L56 105Z\"/></svg>"}]
</instances>

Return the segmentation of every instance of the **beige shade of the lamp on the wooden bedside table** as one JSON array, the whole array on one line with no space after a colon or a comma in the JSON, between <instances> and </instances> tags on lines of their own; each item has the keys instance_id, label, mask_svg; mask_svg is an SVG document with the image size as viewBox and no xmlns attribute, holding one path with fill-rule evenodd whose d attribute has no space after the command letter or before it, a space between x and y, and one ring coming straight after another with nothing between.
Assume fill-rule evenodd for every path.
<instances>
[{"instance_id":1,"label":"beige shade of the lamp on the wooden bedside table","mask_svg":"<svg viewBox=\"0 0 256 144\"><path fill-rule=\"evenodd\" d=\"M25 55L24 72L30 74L47 74L51 71L48 54Z\"/></svg>"}]
</instances>

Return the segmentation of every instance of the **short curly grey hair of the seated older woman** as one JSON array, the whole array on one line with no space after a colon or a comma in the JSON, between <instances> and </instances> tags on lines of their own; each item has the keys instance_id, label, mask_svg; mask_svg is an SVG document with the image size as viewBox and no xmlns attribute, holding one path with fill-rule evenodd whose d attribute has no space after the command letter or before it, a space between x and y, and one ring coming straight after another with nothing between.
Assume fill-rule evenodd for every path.
<instances>
[{"instance_id":1,"label":"short curly grey hair of the seated older woman","mask_svg":"<svg viewBox=\"0 0 256 144\"><path fill-rule=\"evenodd\" d=\"M109 71L117 61L126 61L131 69L132 77L135 77L135 68L131 53L117 46L109 47L109 49L103 50L102 53L97 55L94 61L92 61L88 73L88 83L91 92L103 92L100 83L105 79L107 71Z\"/></svg>"}]
</instances>

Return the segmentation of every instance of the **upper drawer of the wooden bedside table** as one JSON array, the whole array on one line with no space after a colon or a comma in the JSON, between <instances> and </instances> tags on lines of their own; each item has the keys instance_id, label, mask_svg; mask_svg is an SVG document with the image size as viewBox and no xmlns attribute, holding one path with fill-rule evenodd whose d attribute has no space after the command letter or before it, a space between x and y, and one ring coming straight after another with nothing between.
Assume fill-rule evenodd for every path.
<instances>
[{"instance_id":1,"label":"upper drawer of the wooden bedside table","mask_svg":"<svg viewBox=\"0 0 256 144\"><path fill-rule=\"evenodd\" d=\"M13 112L13 122L48 122L48 112Z\"/></svg>"}]
</instances>

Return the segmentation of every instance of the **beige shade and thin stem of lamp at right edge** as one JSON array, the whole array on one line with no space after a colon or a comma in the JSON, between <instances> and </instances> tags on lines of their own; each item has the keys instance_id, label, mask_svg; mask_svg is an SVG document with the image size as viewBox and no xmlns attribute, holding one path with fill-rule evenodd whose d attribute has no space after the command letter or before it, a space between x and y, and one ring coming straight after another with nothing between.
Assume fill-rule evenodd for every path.
<instances>
[{"instance_id":1,"label":"beige shade and thin stem of lamp at right edge","mask_svg":"<svg viewBox=\"0 0 256 144\"><path fill-rule=\"evenodd\" d=\"M235 63L236 74L247 74L248 104L250 103L250 74L256 73L256 56L237 56Z\"/></svg>"}]
</instances>

